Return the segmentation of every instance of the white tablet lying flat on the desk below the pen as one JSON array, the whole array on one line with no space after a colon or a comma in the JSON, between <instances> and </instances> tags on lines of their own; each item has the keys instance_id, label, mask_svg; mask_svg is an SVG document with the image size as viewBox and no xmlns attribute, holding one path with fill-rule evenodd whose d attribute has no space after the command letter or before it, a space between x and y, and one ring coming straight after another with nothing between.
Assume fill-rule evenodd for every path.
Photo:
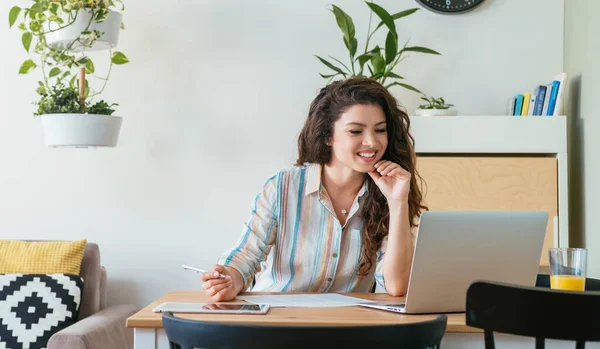
<instances>
[{"instance_id":1,"label":"white tablet lying flat on the desk below the pen","mask_svg":"<svg viewBox=\"0 0 600 349\"><path fill-rule=\"evenodd\" d=\"M178 303L166 302L152 309L155 313L171 311L173 313L202 314L256 314L269 312L268 304L228 304L228 303Z\"/></svg>"}]
</instances>

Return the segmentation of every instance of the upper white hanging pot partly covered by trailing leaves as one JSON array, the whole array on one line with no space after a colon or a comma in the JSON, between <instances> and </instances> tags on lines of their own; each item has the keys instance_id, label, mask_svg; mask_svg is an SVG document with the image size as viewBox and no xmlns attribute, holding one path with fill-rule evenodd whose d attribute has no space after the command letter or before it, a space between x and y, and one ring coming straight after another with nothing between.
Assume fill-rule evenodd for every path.
<instances>
[{"instance_id":1,"label":"upper white hanging pot partly covered by trailing leaves","mask_svg":"<svg viewBox=\"0 0 600 349\"><path fill-rule=\"evenodd\" d=\"M104 34L102 34L100 38L94 42L92 48L88 48L87 45L82 45L81 43L76 42L69 49L69 51L99 51L107 50L117 46L123 14L111 10L109 11L108 17L106 17L106 19L100 23L96 23L93 20L90 23L91 17L91 10L79 10L77 18L73 24L66 26L68 18L64 19L65 24L63 24L63 26L66 26L65 28L46 34L46 42L48 43L48 46L61 50L66 49L68 45L79 38L79 35L81 32L86 30L88 24L89 31L98 30ZM51 22L48 25L47 30L55 30L57 28L58 24Z\"/></svg>"}]
</instances>

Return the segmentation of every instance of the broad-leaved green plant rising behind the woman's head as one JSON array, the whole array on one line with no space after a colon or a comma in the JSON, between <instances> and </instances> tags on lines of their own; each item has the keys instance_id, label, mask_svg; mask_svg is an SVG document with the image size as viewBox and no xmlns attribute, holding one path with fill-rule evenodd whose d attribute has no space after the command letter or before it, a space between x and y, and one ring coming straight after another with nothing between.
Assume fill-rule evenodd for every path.
<instances>
[{"instance_id":1,"label":"broad-leaved green plant rising behind the woman's head","mask_svg":"<svg viewBox=\"0 0 600 349\"><path fill-rule=\"evenodd\" d=\"M386 88L390 88L392 86L401 86L411 91L422 93L417 88L402 82L404 77L394 72L394 68L396 68L396 66L407 57L407 53L418 52L434 55L440 54L439 52L426 47L408 46L408 41L406 41L402 47L398 45L398 32L395 21L409 16L417 12L419 9L412 8L395 14L390 14L386 9L373 2L366 2L366 4L370 9L369 27L367 30L364 51L360 54L358 53L358 40L356 39L354 21L341 8L332 5L331 11L335 15L338 27L344 34L343 40L344 45L348 49L349 64L346 65L341 60L329 56L332 60L339 64L336 65L320 56L316 56L319 61L333 71L331 74L320 75L323 78L328 79L328 83L336 77L342 77L346 79L352 76L367 76L371 79L379 81ZM379 18L380 22L377 24L375 29L371 30L373 13ZM388 30L385 44L382 46L376 45L373 48L369 48L371 37L381 27L384 26ZM368 71L368 74L365 69Z\"/></svg>"}]
</instances>

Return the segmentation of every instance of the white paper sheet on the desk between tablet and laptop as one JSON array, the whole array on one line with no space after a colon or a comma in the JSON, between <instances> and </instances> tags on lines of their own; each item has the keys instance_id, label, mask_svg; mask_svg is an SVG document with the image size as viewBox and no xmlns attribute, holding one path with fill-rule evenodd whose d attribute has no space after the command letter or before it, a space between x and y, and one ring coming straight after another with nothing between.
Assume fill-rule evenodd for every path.
<instances>
[{"instance_id":1,"label":"white paper sheet on the desk between tablet and laptop","mask_svg":"<svg viewBox=\"0 0 600 349\"><path fill-rule=\"evenodd\" d=\"M342 296L337 293L278 294L262 296L238 296L237 299L254 304L269 304L271 307L347 307L372 301Z\"/></svg>"}]
</instances>

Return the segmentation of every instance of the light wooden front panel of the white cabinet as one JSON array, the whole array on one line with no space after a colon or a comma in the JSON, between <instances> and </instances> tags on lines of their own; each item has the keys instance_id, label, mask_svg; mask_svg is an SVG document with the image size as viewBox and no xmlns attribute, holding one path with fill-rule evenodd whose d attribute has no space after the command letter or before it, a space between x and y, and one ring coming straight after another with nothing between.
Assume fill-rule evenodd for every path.
<instances>
[{"instance_id":1,"label":"light wooden front panel of the white cabinet","mask_svg":"<svg viewBox=\"0 0 600 349\"><path fill-rule=\"evenodd\" d=\"M540 265L548 265L558 215L556 158L419 156L430 210L543 210L548 227Z\"/></svg>"}]
</instances>

